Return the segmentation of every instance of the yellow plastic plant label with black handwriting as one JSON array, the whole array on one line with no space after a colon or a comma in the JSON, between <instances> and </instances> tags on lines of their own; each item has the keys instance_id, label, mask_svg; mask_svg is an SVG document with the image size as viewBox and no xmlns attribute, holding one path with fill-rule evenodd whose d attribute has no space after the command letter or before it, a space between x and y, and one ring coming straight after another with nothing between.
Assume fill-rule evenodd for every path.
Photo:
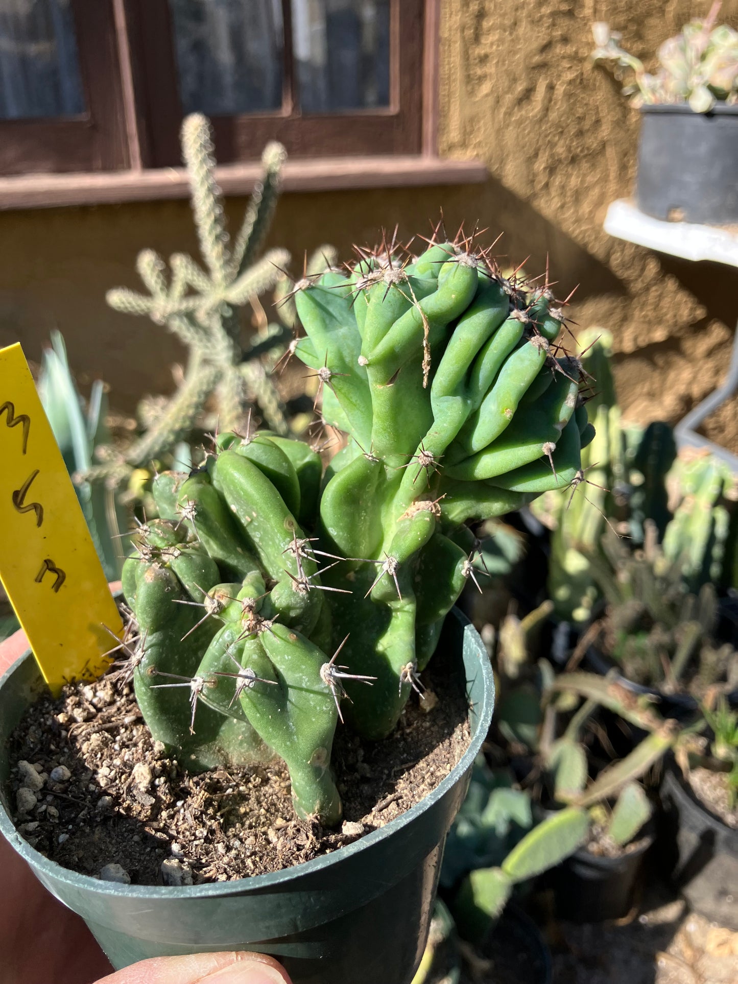
<instances>
[{"instance_id":1,"label":"yellow plastic plant label with black handwriting","mask_svg":"<svg viewBox=\"0 0 738 984\"><path fill-rule=\"evenodd\" d=\"M52 692L109 664L120 615L20 344L0 348L0 579Z\"/></svg>"}]
</instances>

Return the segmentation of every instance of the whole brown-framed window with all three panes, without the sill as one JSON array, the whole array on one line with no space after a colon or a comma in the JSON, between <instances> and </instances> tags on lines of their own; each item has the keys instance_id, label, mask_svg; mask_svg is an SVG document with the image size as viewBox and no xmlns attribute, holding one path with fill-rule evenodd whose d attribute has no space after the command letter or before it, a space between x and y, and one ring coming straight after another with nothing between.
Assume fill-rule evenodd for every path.
<instances>
[{"instance_id":1,"label":"whole brown-framed window with all three panes, without the sill","mask_svg":"<svg viewBox=\"0 0 738 984\"><path fill-rule=\"evenodd\" d=\"M177 166L194 110L221 163L420 154L437 3L3 0L0 174Z\"/></svg>"}]
</instances>

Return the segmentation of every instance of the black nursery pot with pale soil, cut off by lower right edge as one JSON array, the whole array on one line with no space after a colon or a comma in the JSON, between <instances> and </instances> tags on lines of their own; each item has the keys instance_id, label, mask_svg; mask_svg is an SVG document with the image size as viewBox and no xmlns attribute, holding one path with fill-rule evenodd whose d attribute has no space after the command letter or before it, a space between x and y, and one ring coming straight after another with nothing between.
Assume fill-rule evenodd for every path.
<instances>
[{"instance_id":1,"label":"black nursery pot with pale soil, cut off by lower right edge","mask_svg":"<svg viewBox=\"0 0 738 984\"><path fill-rule=\"evenodd\" d=\"M696 912L738 930L738 830L709 813L673 758L667 760L660 794L674 887Z\"/></svg>"}]
</instances>

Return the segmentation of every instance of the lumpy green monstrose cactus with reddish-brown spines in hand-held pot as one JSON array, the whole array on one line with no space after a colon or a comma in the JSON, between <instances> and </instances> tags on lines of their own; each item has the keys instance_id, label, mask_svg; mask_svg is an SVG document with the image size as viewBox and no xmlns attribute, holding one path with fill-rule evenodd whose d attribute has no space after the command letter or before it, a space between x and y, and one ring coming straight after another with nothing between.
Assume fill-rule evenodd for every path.
<instances>
[{"instance_id":1,"label":"lumpy green monstrose cactus with reddish-brown spines in hand-held pot","mask_svg":"<svg viewBox=\"0 0 738 984\"><path fill-rule=\"evenodd\" d=\"M324 468L274 433L215 435L200 468L156 477L124 568L120 672L154 738L193 769L281 757L298 816L326 825L337 722L382 739L422 689L478 571L470 527L581 480L593 436L548 283L474 240L412 256L383 237L295 282L289 351L344 447Z\"/></svg>"}]
</instances>

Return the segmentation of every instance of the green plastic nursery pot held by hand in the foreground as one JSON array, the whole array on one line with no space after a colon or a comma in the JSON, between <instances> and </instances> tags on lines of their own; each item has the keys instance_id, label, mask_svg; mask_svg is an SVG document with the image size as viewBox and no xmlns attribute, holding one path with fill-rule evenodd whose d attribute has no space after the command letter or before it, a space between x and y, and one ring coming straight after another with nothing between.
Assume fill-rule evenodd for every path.
<instances>
[{"instance_id":1,"label":"green plastic nursery pot held by hand in the foreground","mask_svg":"<svg viewBox=\"0 0 738 984\"><path fill-rule=\"evenodd\" d=\"M27 652L0 679L0 830L48 891L85 919L116 969L150 956L251 950L277 956L294 984L409 984L428 936L446 834L494 706L486 650L456 609L439 657L465 679L471 742L422 802L381 830L284 871L158 888L78 875L15 830L5 791L7 738L44 686Z\"/></svg>"}]
</instances>

